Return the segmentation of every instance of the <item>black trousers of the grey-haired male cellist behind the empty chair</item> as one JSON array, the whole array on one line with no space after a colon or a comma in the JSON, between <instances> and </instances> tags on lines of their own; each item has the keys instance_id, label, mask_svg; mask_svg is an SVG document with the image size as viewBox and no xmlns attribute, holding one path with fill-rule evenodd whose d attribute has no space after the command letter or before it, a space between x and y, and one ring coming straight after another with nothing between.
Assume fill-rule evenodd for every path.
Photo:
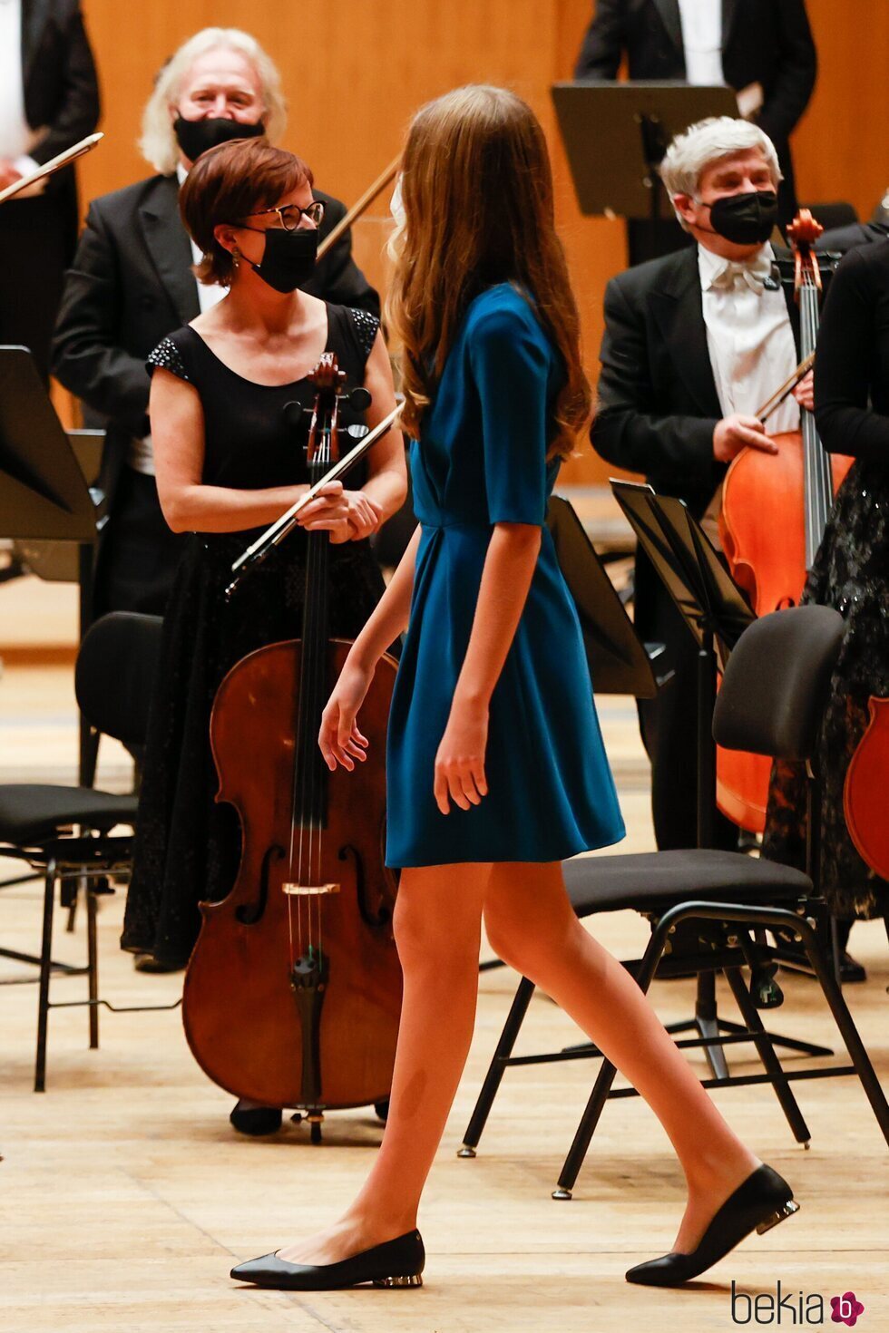
<instances>
[{"instance_id":1,"label":"black trousers of the grey-haired male cellist behind the empty chair","mask_svg":"<svg viewBox=\"0 0 889 1333\"><path fill-rule=\"evenodd\" d=\"M644 555L636 559L636 627L664 644L673 678L656 698L638 701L642 744L652 761L652 816L658 850L697 846L697 644ZM737 849L738 830L718 809L713 845Z\"/></svg>"}]
</instances>

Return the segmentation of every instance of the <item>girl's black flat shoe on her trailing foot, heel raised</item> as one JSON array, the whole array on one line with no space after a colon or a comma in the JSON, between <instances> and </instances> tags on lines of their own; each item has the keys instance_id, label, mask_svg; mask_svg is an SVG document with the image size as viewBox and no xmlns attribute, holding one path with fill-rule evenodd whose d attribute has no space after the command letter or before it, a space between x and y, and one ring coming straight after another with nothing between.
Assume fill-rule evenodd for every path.
<instances>
[{"instance_id":1,"label":"girl's black flat shoe on her trailing foot, heel raised","mask_svg":"<svg viewBox=\"0 0 889 1333\"><path fill-rule=\"evenodd\" d=\"M637 1264L625 1274L626 1281L644 1286L678 1286L718 1262L754 1228L761 1236L798 1208L788 1182L770 1166L757 1166L716 1212L697 1249L690 1254L670 1250L648 1264Z\"/></svg>"}]
</instances>

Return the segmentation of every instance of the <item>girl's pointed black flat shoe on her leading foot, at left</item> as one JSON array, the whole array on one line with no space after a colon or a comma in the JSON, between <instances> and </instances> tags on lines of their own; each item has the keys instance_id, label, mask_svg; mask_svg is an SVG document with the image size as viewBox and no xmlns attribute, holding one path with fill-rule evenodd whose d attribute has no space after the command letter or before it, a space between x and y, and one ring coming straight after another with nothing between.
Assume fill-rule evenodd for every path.
<instances>
[{"instance_id":1,"label":"girl's pointed black flat shoe on her leading foot, at left","mask_svg":"<svg viewBox=\"0 0 889 1333\"><path fill-rule=\"evenodd\" d=\"M420 1232L405 1232L393 1241L375 1245L339 1264L288 1264L277 1254L263 1254L239 1264L232 1277L279 1292L336 1292L373 1282L375 1286L423 1286L427 1256Z\"/></svg>"}]
</instances>

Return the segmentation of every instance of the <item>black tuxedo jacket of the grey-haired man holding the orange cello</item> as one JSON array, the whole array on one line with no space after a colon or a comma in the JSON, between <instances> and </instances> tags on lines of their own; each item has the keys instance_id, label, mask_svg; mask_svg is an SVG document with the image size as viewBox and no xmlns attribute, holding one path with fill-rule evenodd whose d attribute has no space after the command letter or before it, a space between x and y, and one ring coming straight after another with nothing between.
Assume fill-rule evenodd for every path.
<instances>
[{"instance_id":1,"label":"black tuxedo jacket of the grey-haired man holding the orange cello","mask_svg":"<svg viewBox=\"0 0 889 1333\"><path fill-rule=\"evenodd\" d=\"M776 256L786 252L776 247ZM796 301L782 287L798 349ZM713 457L713 429L722 409L706 345L696 245L609 281L600 360L593 448L608 463L644 473L662 495L680 496L700 517L725 464Z\"/></svg>"}]
</instances>

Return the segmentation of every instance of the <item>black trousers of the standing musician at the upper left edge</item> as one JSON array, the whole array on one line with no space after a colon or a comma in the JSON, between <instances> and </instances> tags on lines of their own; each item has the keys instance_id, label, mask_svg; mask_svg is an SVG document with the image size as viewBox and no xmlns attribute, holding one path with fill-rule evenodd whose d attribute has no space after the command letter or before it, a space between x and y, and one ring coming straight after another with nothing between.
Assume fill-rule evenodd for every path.
<instances>
[{"instance_id":1,"label":"black trousers of the standing musician at the upper left edge","mask_svg":"<svg viewBox=\"0 0 889 1333\"><path fill-rule=\"evenodd\" d=\"M0 205L0 343L31 348L44 380L71 247L64 197L40 195Z\"/></svg>"}]
</instances>

